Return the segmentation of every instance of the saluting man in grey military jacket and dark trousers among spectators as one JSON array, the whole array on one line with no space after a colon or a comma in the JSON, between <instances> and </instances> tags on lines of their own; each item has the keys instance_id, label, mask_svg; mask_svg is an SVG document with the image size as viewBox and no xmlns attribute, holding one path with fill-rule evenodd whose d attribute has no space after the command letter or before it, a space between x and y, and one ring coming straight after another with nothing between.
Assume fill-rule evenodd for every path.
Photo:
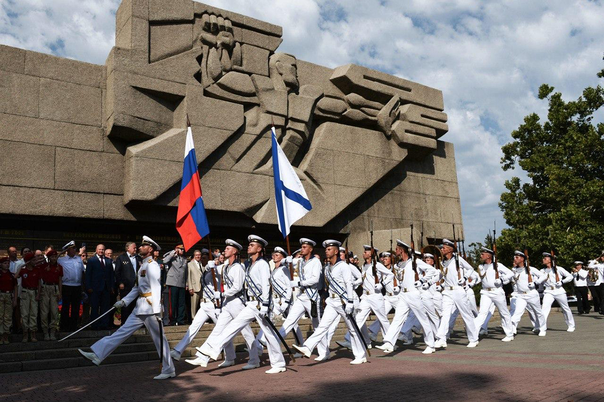
<instances>
[{"instance_id":1,"label":"saluting man in grey military jacket and dark trousers among spectators","mask_svg":"<svg viewBox=\"0 0 604 402\"><path fill-rule=\"evenodd\" d=\"M182 257L185 249L182 244L164 254L164 266L167 270L165 284L170 292L170 310L172 321L168 325L185 324L185 297L187 286L187 260Z\"/></svg>"}]
</instances>

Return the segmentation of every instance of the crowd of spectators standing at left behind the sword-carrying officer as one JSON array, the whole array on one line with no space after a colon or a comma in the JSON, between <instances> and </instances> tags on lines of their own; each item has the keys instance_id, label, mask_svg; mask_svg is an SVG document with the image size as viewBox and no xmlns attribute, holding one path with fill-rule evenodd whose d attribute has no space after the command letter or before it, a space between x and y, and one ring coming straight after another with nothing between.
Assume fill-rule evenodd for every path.
<instances>
[{"instance_id":1,"label":"crowd of spectators standing at left behind the sword-carrying officer","mask_svg":"<svg viewBox=\"0 0 604 402\"><path fill-rule=\"evenodd\" d=\"M44 250L10 246L0 258L0 345L10 334L22 334L22 342L57 340L59 331L75 331L94 321L127 295L136 284L142 260L137 244L129 241L123 252L97 244L93 254L74 241L60 250L49 244ZM153 258L162 270L164 325L190 324L199 308L201 273L210 258L220 263L220 250L194 250L186 257L184 247ZM134 304L105 314L91 330L111 330L123 325ZM42 334L39 337L40 333Z\"/></svg>"}]
</instances>

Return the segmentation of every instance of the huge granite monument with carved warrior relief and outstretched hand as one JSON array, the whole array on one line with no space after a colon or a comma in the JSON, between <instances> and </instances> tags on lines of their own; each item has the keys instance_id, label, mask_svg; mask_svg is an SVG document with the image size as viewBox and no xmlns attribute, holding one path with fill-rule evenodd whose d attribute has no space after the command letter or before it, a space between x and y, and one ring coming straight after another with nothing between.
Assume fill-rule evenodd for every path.
<instances>
[{"instance_id":1,"label":"huge granite monument with carved warrior relief and outstretched hand","mask_svg":"<svg viewBox=\"0 0 604 402\"><path fill-rule=\"evenodd\" d=\"M104 66L0 46L5 237L173 241L187 116L216 246L283 241L272 124L313 206L292 236L350 233L358 252L371 222L380 249L408 240L412 216L425 243L461 222L438 89L299 60L278 51L281 27L191 0L123 0L115 32Z\"/></svg>"}]
</instances>

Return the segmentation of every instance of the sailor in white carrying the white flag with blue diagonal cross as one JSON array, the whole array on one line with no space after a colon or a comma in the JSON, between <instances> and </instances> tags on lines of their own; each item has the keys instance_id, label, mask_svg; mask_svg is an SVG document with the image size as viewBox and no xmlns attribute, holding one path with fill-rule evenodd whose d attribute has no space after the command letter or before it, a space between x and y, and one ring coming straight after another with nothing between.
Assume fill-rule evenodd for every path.
<instances>
[{"instance_id":1,"label":"sailor in white carrying the white flag with blue diagonal cross","mask_svg":"<svg viewBox=\"0 0 604 402\"><path fill-rule=\"evenodd\" d=\"M306 313L311 321L312 327L315 329L319 326L318 304L319 304L319 287L321 279L321 260L313 255L313 248L316 243L309 238L300 239L300 255L301 259L297 264L298 280L290 282L290 287L298 288L298 294L292 307L289 308L288 317L283 321L279 333L285 337L285 334L298 324L298 321ZM286 263L291 262L291 257L286 258ZM300 337L300 340L303 340ZM327 336L321 339L318 346L319 356L315 360L329 359L329 343ZM295 355L294 355L295 356Z\"/></svg>"}]
</instances>

